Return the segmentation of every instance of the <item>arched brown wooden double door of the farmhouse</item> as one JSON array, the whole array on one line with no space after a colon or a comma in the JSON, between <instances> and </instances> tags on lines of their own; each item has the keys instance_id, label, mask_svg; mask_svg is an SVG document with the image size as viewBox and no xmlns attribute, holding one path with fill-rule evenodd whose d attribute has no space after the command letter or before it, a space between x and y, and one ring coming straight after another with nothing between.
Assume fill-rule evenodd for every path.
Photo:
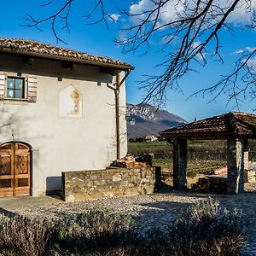
<instances>
[{"instance_id":1,"label":"arched brown wooden double door of the farmhouse","mask_svg":"<svg viewBox=\"0 0 256 256\"><path fill-rule=\"evenodd\" d=\"M24 143L0 147L0 197L30 195L31 151Z\"/></svg>"}]
</instances>

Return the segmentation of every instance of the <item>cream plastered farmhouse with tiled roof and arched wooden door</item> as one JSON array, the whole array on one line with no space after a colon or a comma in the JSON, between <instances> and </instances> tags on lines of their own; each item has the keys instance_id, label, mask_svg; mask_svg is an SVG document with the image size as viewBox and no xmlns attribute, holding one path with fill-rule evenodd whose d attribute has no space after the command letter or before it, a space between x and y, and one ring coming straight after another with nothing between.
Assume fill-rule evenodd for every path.
<instances>
[{"instance_id":1,"label":"cream plastered farmhouse with tiled roof and arched wooden door","mask_svg":"<svg viewBox=\"0 0 256 256\"><path fill-rule=\"evenodd\" d=\"M0 196L61 190L61 172L125 156L125 79L133 67L0 38Z\"/></svg>"}]
</instances>

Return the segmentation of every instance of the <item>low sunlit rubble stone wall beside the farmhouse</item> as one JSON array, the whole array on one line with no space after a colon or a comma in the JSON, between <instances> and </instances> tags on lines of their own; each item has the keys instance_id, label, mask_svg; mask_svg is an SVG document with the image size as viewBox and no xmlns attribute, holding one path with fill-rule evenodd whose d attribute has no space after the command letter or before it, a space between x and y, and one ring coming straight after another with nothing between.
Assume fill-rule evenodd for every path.
<instances>
[{"instance_id":1,"label":"low sunlit rubble stone wall beside the farmhouse","mask_svg":"<svg viewBox=\"0 0 256 256\"><path fill-rule=\"evenodd\" d=\"M154 168L62 172L63 200L67 202L151 194L154 188Z\"/></svg>"}]
</instances>

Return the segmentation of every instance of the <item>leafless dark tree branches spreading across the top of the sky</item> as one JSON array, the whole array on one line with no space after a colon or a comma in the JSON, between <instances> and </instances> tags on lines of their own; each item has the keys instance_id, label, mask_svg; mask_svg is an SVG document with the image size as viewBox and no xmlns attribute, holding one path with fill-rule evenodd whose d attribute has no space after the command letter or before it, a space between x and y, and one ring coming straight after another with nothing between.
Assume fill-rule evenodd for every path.
<instances>
[{"instance_id":1,"label":"leafless dark tree branches spreading across the top of the sky","mask_svg":"<svg viewBox=\"0 0 256 256\"><path fill-rule=\"evenodd\" d=\"M69 30L68 17L71 6L77 0L66 0L53 13L45 18L35 19L26 15L28 26L38 29L45 22L50 22L57 41L62 41L56 30L56 22L61 21L63 28ZM107 2L94 0L93 7L84 10L82 17L88 24L104 22L108 26L113 20L107 10ZM142 3L144 4L142 8ZM42 7L54 4L54 0L44 3ZM133 7L133 8L131 8ZM256 28L255 0L137 0L130 3L130 8L121 9L119 15L125 17L126 23L121 24L122 35L115 42L123 47L124 52L148 52L150 42L160 38L163 42L162 51L167 52L165 61L158 64L164 67L159 75L148 76L140 84L147 91L144 101L162 105L166 102L166 90L182 90L179 80L193 70L193 63L202 66L210 58L221 63L224 57L220 53L220 45L224 44L221 32L234 33L237 29ZM234 14L243 11L247 16L244 22L236 22ZM165 17L167 16L167 19ZM63 42L63 41L62 41ZM212 100L226 94L229 101L235 101L239 108L240 101L245 98L256 98L256 47L239 51L234 71L222 76L217 84L196 91L195 95L212 94ZM192 67L191 67L192 66Z\"/></svg>"}]
</instances>

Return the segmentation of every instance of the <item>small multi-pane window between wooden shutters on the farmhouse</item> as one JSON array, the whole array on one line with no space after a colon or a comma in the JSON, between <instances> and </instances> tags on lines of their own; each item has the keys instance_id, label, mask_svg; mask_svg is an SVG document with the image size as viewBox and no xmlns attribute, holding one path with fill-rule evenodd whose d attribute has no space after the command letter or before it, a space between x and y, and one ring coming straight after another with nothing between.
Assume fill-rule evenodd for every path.
<instances>
[{"instance_id":1,"label":"small multi-pane window between wooden shutters on the farmhouse","mask_svg":"<svg viewBox=\"0 0 256 256\"><path fill-rule=\"evenodd\" d=\"M25 98L25 80L21 78L7 78L7 97L12 99Z\"/></svg>"}]
</instances>

